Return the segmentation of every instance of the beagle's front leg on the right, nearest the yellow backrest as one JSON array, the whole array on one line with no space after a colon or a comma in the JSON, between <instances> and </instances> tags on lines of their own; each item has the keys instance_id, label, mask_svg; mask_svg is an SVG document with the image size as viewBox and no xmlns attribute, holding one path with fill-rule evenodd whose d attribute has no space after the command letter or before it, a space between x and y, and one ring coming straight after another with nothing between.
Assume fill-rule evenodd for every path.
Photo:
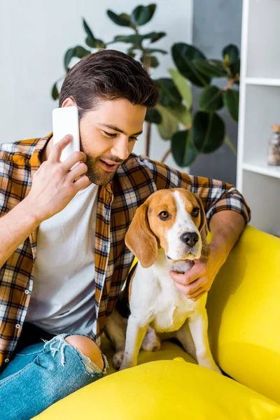
<instances>
[{"instance_id":1,"label":"beagle's front leg on the right, nearest the yellow backrest","mask_svg":"<svg viewBox=\"0 0 280 420\"><path fill-rule=\"evenodd\" d=\"M209 340L208 340L208 318L206 309L196 311L195 314L188 318L190 333L195 343L195 353L197 363L201 366L208 367L215 372L221 373L221 370L215 363L212 356Z\"/></svg>"}]
</instances>

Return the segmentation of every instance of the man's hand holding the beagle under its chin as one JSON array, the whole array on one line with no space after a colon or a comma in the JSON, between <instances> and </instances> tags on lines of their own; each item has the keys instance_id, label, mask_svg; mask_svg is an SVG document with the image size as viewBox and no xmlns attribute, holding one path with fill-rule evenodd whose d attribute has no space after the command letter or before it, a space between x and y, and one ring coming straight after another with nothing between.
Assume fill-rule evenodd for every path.
<instances>
[{"instance_id":1,"label":"man's hand holding the beagle under its chin","mask_svg":"<svg viewBox=\"0 0 280 420\"><path fill-rule=\"evenodd\" d=\"M195 264L190 271L179 274L174 271L169 271L170 276L174 280L174 285L180 290L188 299L193 301L200 299L207 293L224 261L217 265L212 261L212 258L194 260Z\"/></svg>"}]
</instances>

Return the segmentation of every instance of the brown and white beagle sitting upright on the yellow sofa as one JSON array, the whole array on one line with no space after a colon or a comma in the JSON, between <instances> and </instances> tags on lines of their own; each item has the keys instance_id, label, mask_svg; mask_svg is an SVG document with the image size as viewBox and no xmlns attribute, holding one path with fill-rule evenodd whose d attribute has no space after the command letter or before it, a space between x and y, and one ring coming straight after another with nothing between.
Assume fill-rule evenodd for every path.
<instances>
[{"instance_id":1,"label":"brown and white beagle sitting upright on the yellow sofa","mask_svg":"<svg viewBox=\"0 0 280 420\"><path fill-rule=\"evenodd\" d=\"M137 209L125 244L139 262L106 324L116 349L114 367L135 366L141 348L155 351L160 339L176 337L199 365L221 373L209 348L207 293L190 300L169 275L169 270L185 273L193 260L209 257L200 198L183 188L156 191ZM128 320L122 314L126 297Z\"/></svg>"}]
</instances>

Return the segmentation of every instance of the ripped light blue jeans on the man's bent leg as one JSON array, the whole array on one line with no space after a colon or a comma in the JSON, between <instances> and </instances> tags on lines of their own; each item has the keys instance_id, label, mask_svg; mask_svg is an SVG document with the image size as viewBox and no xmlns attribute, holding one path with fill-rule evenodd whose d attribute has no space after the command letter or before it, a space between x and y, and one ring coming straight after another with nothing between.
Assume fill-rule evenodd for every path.
<instances>
[{"instance_id":1,"label":"ripped light blue jeans on the man's bent leg","mask_svg":"<svg viewBox=\"0 0 280 420\"><path fill-rule=\"evenodd\" d=\"M106 357L101 370L90 358L65 341L61 334L49 341L26 346L0 373L1 420L29 420L58 400L101 378L109 367Z\"/></svg>"}]
</instances>

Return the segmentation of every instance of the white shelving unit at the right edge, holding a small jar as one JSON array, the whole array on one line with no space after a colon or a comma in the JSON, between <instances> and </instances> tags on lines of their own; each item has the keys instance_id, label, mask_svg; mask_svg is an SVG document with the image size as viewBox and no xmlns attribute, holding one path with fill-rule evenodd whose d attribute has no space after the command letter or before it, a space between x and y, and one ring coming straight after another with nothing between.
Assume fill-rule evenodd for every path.
<instances>
[{"instance_id":1,"label":"white shelving unit at the right edge, holding a small jar","mask_svg":"<svg viewBox=\"0 0 280 420\"><path fill-rule=\"evenodd\" d=\"M243 0L237 188L251 225L280 237L280 166L267 164L270 127L280 124L279 16L279 0Z\"/></svg>"}]
</instances>

